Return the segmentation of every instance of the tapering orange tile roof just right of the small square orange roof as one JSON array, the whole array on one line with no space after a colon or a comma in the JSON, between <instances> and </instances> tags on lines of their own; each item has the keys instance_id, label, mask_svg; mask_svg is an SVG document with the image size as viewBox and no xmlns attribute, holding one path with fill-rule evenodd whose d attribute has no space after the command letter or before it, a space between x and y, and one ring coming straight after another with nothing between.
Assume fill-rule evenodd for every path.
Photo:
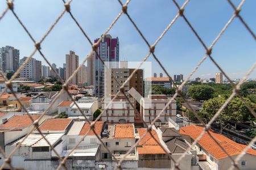
<instances>
[{"instance_id":1,"label":"tapering orange tile roof just right of the small square orange roof","mask_svg":"<svg viewBox=\"0 0 256 170\"><path fill-rule=\"evenodd\" d=\"M142 137L145 133L147 133L147 130L144 128L139 128L138 133L139 137ZM159 142L159 138L155 130L152 130L152 134ZM166 154L163 148L156 143L155 139L152 138L149 133L147 133L146 136L138 143L138 154Z\"/></svg>"}]
</instances>

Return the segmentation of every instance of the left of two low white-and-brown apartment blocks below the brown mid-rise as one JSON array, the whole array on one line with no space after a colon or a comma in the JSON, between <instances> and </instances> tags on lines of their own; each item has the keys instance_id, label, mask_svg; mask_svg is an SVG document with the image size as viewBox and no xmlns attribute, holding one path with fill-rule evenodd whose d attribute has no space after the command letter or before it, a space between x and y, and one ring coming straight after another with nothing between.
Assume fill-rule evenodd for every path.
<instances>
[{"instance_id":1,"label":"left of two low white-and-brown apartment blocks below the brown mid-rise","mask_svg":"<svg viewBox=\"0 0 256 170\"><path fill-rule=\"evenodd\" d=\"M112 98L114 95L111 96ZM112 99L111 98L111 99ZM134 107L135 100L130 98L131 103L133 103ZM101 101L101 108L104 110L108 104L110 103L110 98L104 98ZM116 99L112 102L112 104L106 109L106 112L102 114L101 120L106 121L107 123L134 123L134 109L129 101L125 98L124 95L117 96Z\"/></svg>"}]
</instances>

